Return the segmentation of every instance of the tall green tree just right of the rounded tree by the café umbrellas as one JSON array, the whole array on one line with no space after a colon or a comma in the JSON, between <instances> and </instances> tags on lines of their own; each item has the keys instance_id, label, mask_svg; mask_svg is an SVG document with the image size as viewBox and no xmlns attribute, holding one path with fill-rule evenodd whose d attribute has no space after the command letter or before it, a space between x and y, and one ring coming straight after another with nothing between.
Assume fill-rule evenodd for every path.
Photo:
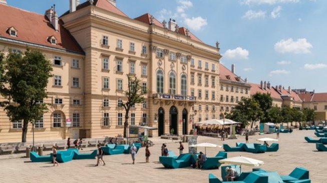
<instances>
[{"instance_id":1,"label":"tall green tree just right of the rounded tree by the caf\u00e9 umbrellas","mask_svg":"<svg viewBox=\"0 0 327 183\"><path fill-rule=\"evenodd\" d=\"M261 122L269 121L268 111L272 106L272 98L270 93L255 93L252 95L252 98L259 103L259 106L263 112L263 115L260 117Z\"/></svg>"}]
</instances>

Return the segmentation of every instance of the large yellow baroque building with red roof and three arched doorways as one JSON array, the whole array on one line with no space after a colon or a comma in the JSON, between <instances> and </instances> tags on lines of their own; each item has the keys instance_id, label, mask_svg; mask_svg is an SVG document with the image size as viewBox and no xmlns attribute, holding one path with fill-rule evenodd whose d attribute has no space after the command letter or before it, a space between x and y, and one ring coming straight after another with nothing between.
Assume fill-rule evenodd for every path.
<instances>
[{"instance_id":1,"label":"large yellow baroque building with red roof and three arched doorways","mask_svg":"<svg viewBox=\"0 0 327 183\"><path fill-rule=\"evenodd\" d=\"M157 127L152 136L188 134L195 122L220 115L219 44L203 43L175 20L148 13L133 19L115 0L70 0L60 17L55 7L38 14L6 0L0 10L0 49L36 48L53 63L49 97L40 101L49 111L36 123L36 140L122 134L127 75L141 79L146 95L129 124ZM0 142L20 141L21 128L0 111Z\"/></svg>"}]
</instances>

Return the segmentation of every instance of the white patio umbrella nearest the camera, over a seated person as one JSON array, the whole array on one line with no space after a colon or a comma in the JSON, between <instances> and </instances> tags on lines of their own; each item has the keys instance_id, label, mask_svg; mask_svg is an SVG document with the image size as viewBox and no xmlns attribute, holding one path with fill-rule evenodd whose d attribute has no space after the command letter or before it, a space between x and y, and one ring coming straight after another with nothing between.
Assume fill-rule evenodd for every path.
<instances>
[{"instance_id":1,"label":"white patio umbrella nearest the camera, over a seated person","mask_svg":"<svg viewBox=\"0 0 327 183\"><path fill-rule=\"evenodd\" d=\"M260 166L264 164L263 161L257 160L257 159L252 159L249 157L244 157L244 156L236 156L236 157L229 157L226 159L220 159L220 163L228 163L228 164L238 164L240 166L245 165L245 166Z\"/></svg>"}]
</instances>

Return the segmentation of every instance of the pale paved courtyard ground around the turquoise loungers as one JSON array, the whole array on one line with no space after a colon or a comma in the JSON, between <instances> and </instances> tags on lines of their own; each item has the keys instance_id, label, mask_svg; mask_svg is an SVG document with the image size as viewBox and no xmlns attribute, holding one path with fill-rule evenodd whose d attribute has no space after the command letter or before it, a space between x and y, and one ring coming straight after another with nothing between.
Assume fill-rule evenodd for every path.
<instances>
[{"instance_id":1,"label":"pale paved courtyard ground around the turquoise loungers","mask_svg":"<svg viewBox=\"0 0 327 183\"><path fill-rule=\"evenodd\" d=\"M318 152L314 143L306 143L304 136L314 136L313 130L294 130L293 133L280 133L279 150L254 154L247 152L229 152L228 157L243 155L264 161L261 166L267 170L275 170L280 174L288 174L296 166L303 166L310 170L313 183L327 182L327 152ZM260 137L275 137L275 134L250 136L249 141L255 142ZM136 164L132 164L129 154L106 155L106 166L95 167L95 159L73 160L61 163L59 167L52 167L51 163L32 163L24 154L0 156L0 182L208 182L208 174L214 173L220 177L220 169L199 170L193 168L166 169L158 162L160 154L159 142L150 147L152 153L150 163L145 163L145 148L141 148L136 156ZM216 144L228 143L235 145L236 141L245 141L244 137L221 141L218 138L198 138L198 142ZM178 153L178 143L168 141L168 148ZM184 144L187 151L187 144ZM91 148L86 151L91 150ZM198 148L198 151L204 149ZM207 148L207 155L213 156L222 148ZM48 152L46 152L48 153ZM252 167L243 166L244 171Z\"/></svg>"}]
</instances>

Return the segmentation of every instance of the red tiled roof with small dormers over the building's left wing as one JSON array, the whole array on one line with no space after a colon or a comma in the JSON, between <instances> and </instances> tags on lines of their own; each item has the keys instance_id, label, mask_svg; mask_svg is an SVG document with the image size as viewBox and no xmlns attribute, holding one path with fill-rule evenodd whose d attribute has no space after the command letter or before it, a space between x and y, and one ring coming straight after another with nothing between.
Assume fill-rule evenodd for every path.
<instances>
[{"instance_id":1,"label":"red tiled roof with small dormers over the building's left wing","mask_svg":"<svg viewBox=\"0 0 327 183\"><path fill-rule=\"evenodd\" d=\"M74 37L63 27L59 21L59 31L56 31L48 18L43 14L27 11L17 7L0 3L0 36L41 44L45 46L67 49L83 53ZM6 31L14 26L17 37L9 35ZM55 36L57 44L52 44L47 38Z\"/></svg>"}]
</instances>

